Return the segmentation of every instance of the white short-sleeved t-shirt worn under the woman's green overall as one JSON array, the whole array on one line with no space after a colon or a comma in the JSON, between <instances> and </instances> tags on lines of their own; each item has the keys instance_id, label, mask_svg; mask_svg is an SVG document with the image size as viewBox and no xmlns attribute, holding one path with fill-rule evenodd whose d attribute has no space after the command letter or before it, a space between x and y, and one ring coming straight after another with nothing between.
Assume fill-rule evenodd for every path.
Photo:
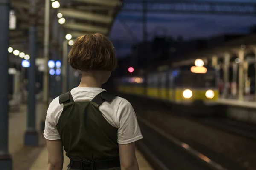
<instances>
[{"instance_id":1,"label":"white short-sleeved t-shirt worn under the woman's green overall","mask_svg":"<svg viewBox=\"0 0 256 170\"><path fill-rule=\"evenodd\" d=\"M106 90L102 88L74 88L71 90L71 95L75 102L91 101L102 91ZM99 110L108 123L118 129L117 142L119 144L129 144L143 138L134 109L126 99L116 97L111 103L103 102L99 106ZM61 139L56 125L62 111L63 104L59 104L59 98L53 99L45 120L44 137L46 139Z\"/></svg>"}]
</instances>

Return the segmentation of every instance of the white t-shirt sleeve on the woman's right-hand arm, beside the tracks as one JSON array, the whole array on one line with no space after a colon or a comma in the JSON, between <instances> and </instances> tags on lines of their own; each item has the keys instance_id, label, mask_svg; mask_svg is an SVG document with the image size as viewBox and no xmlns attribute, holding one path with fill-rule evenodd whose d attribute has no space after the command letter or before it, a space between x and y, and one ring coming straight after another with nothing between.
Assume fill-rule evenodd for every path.
<instances>
[{"instance_id":1,"label":"white t-shirt sleeve on the woman's right-hand arm, beside the tracks","mask_svg":"<svg viewBox=\"0 0 256 170\"><path fill-rule=\"evenodd\" d=\"M122 99L117 111L118 143L129 144L143 138L134 108Z\"/></svg>"}]
</instances>

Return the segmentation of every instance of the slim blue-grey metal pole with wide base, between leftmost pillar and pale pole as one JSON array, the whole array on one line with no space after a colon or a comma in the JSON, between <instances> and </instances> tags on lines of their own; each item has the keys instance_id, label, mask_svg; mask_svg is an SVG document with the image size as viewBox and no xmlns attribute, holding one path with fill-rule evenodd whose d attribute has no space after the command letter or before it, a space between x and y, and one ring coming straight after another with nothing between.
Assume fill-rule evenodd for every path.
<instances>
[{"instance_id":1,"label":"slim blue-grey metal pole with wide base, between leftmost pillar and pale pole","mask_svg":"<svg viewBox=\"0 0 256 170\"><path fill-rule=\"evenodd\" d=\"M38 0L30 0L30 26L29 26L29 98L27 130L25 133L25 145L38 145L38 133L35 129L35 57L36 57L36 8Z\"/></svg>"}]
</instances>

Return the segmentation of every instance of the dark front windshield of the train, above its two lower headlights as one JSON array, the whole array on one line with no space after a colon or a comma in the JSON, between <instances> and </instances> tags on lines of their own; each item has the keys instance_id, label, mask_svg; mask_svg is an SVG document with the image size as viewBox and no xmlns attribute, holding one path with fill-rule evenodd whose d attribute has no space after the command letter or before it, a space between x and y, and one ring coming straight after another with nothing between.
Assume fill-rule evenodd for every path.
<instances>
[{"instance_id":1,"label":"dark front windshield of the train, above its two lower headlights","mask_svg":"<svg viewBox=\"0 0 256 170\"><path fill-rule=\"evenodd\" d=\"M180 74L175 83L178 87L186 88L212 88L216 87L215 71L206 74L183 72Z\"/></svg>"}]
</instances>

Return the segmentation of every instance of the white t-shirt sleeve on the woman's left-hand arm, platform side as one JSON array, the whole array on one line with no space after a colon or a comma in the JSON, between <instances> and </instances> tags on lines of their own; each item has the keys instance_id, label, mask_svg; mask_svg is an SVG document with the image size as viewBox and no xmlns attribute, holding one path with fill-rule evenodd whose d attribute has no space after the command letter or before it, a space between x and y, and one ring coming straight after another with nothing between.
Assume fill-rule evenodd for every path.
<instances>
[{"instance_id":1,"label":"white t-shirt sleeve on the woman's left-hand arm, platform side","mask_svg":"<svg viewBox=\"0 0 256 170\"><path fill-rule=\"evenodd\" d=\"M45 119L44 125L44 137L48 140L58 140L61 139L58 130L57 130L57 123L58 119L61 116L63 111L63 105L59 104L58 97L52 100L50 103L47 115Z\"/></svg>"}]
</instances>

